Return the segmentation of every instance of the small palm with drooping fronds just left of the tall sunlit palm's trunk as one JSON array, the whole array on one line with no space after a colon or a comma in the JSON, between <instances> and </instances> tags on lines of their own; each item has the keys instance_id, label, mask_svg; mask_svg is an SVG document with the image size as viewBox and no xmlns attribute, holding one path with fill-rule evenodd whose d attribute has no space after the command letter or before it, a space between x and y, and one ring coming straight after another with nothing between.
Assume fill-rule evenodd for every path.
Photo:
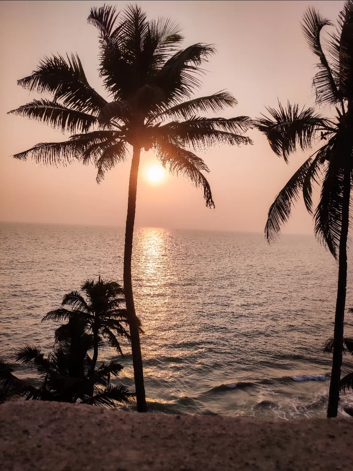
<instances>
[{"instance_id":1,"label":"small palm with drooping fronds just left of the tall sunlit palm's trunk","mask_svg":"<svg viewBox=\"0 0 353 471\"><path fill-rule=\"evenodd\" d=\"M78 291L65 294L61 303L62 307L49 311L43 317L42 322L80 320L85 329L92 333L93 357L90 368L93 391L100 337L103 337L112 348L122 355L117 336L130 340L128 331L122 325L128 324L128 318L126 309L121 307L125 302L124 290L115 281L106 281L99 276L98 281L85 281L81 286L81 291L86 294L87 300ZM66 309L65 306L69 306L71 309ZM72 330L69 322L56 329L55 339L56 341L64 341L67 336L71 337L71 335ZM74 352L73 355L75 357Z\"/></svg>"}]
</instances>

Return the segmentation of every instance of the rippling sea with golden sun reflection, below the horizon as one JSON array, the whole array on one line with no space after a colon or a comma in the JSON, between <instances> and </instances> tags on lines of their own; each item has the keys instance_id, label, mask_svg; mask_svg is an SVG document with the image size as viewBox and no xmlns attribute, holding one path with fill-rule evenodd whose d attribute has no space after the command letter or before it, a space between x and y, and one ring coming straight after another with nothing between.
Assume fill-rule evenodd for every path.
<instances>
[{"instance_id":1,"label":"rippling sea with golden sun reflection, below the horizon","mask_svg":"<svg viewBox=\"0 0 353 471\"><path fill-rule=\"evenodd\" d=\"M87 278L122 283L120 227L0 224L0 356L19 345L48 352L57 324L41 324ZM353 307L349 259L347 307ZM313 235L137 228L136 311L142 320L151 411L300 419L326 415L337 264ZM345 335L353 336L346 315ZM133 388L129 345L113 383ZM109 347L101 361L116 357ZM36 383L34 370L15 374ZM342 372L353 370L350 355ZM353 395L341 396L343 407Z\"/></svg>"}]
</instances>

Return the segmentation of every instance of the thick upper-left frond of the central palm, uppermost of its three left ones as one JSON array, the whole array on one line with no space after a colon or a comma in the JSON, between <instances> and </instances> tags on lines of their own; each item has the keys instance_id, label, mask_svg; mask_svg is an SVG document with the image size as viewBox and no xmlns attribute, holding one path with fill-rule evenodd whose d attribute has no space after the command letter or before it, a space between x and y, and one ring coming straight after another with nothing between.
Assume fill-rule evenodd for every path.
<instances>
[{"instance_id":1,"label":"thick upper-left frond of the central palm, uppermost of its three left ones","mask_svg":"<svg viewBox=\"0 0 353 471\"><path fill-rule=\"evenodd\" d=\"M32 75L17 81L30 91L48 93L54 100L62 100L80 112L98 113L106 104L96 90L88 84L80 58L72 55L45 57Z\"/></svg>"}]
</instances>

